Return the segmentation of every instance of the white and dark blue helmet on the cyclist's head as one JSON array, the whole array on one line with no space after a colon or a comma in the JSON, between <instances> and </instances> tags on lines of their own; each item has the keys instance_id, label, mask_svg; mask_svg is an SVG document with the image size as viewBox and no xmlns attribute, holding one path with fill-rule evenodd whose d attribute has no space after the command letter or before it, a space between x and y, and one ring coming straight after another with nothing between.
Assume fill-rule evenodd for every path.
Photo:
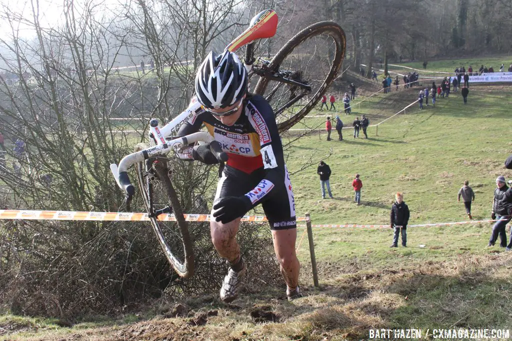
<instances>
[{"instance_id":1,"label":"white and dark blue helmet on the cyclist's head","mask_svg":"<svg viewBox=\"0 0 512 341\"><path fill-rule=\"evenodd\" d=\"M225 51L204 59L196 75L196 95L208 109L219 109L240 101L247 92L247 71L238 56Z\"/></svg>"}]
</instances>

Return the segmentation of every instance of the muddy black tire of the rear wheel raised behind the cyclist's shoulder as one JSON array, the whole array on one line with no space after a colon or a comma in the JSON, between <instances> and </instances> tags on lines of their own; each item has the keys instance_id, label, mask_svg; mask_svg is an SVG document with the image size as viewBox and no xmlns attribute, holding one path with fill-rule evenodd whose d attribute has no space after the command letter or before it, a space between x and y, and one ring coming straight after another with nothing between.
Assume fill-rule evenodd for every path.
<instances>
[{"instance_id":1,"label":"muddy black tire of the rear wheel raised behind the cyclist's shoulder","mask_svg":"<svg viewBox=\"0 0 512 341\"><path fill-rule=\"evenodd\" d=\"M326 76L323 80L317 80L314 84L314 89L312 90L313 96L308 100L308 102L304 105L301 104L302 108L294 111L296 108L290 110L287 116L279 119L276 117L276 122L278 122L278 130L280 133L283 133L290 129L294 124L298 121L302 120L311 109L318 103L320 98L327 92L327 89L335 80L336 75L338 74L339 68L342 65L343 58L345 57L345 49L346 49L346 38L345 32L343 29L333 21L321 21L313 24L301 32L297 33L293 38L288 40L288 42L280 49L280 51L272 58L268 68L270 70L280 70L283 61L289 57L294 51L297 51L297 55L300 55L302 52L299 48L301 44L303 44L308 38L318 37L318 39L322 39L322 37L329 36L332 38L332 42L335 46L334 55L332 60L330 61L330 70L327 72ZM307 49L307 46L305 47ZM317 48L317 46L315 46ZM325 50L325 48L323 48ZM329 49L328 49L329 50ZM314 53L317 53L315 50ZM330 51L327 52L327 56L330 54ZM302 54L305 55L305 54ZM325 54L324 54L325 57ZM290 59L291 60L291 59ZM316 65L316 64L315 64ZM317 66L317 65L316 65ZM314 66L311 66L313 68ZM301 71L303 70L291 70L291 71ZM302 77L302 75L301 75ZM305 75L305 80L308 81L308 75ZM268 77L261 77L258 80L257 85L254 88L254 93L259 94L265 97L265 92L268 88L269 83L272 80ZM279 82L279 81L276 81ZM283 84L283 88L287 85ZM279 84L278 84L279 86ZM290 88L290 86L288 86ZM316 90L316 92L315 92ZM273 91L273 90L272 90ZM286 92L286 89L281 93L281 103L279 101L269 100L267 96L267 100L270 102L270 105L274 109L274 112L278 112L280 110L279 106L283 106L283 102L287 102L287 97L292 94L290 92ZM268 94L267 94L268 95ZM270 95L272 96L272 95Z\"/></svg>"}]
</instances>

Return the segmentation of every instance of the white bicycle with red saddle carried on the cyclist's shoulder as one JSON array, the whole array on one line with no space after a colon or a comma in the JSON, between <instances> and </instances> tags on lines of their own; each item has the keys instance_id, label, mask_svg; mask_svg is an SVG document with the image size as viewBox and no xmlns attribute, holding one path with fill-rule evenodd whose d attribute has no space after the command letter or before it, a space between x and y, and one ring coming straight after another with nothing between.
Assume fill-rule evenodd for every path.
<instances>
[{"instance_id":1,"label":"white bicycle with red saddle carried on the cyclist's shoulder","mask_svg":"<svg viewBox=\"0 0 512 341\"><path fill-rule=\"evenodd\" d=\"M270 103L283 133L307 115L336 78L345 55L345 33L335 22L317 22L293 36L271 60L255 56L257 42L273 37L277 26L278 16L273 10L260 12L226 50L234 52L246 46L244 61L249 80L259 77L253 92ZM169 264L183 278L194 275L194 249L172 183L171 159L165 155L172 152L174 157L189 159L191 147L187 146L209 143L218 161L227 161L227 154L207 132L172 138L200 109L196 101L161 128L158 120L151 120L151 146L139 143L134 153L123 157L119 165L110 166L118 186L126 192L126 206L130 209L135 187L127 171L136 165L137 183L153 230ZM176 222L168 220L170 213L174 213Z\"/></svg>"}]
</instances>

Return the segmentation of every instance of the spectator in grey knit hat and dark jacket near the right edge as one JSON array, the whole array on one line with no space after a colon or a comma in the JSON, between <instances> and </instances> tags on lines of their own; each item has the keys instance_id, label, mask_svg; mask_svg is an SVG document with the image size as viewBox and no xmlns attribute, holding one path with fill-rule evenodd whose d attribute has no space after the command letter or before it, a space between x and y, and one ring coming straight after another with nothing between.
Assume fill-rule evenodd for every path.
<instances>
[{"instance_id":1,"label":"spectator in grey knit hat and dark jacket near the right edge","mask_svg":"<svg viewBox=\"0 0 512 341\"><path fill-rule=\"evenodd\" d=\"M493 220L496 219L497 221L493 226L493 233L490 236L489 244L487 244L487 246L494 246L498 239L498 235L500 236L500 246L507 246L505 226L508 221L510 221L510 217L508 215L507 207L502 202L507 190L508 187L505 185L505 177L503 175L498 176L496 178L496 189L494 190L493 211L490 215Z\"/></svg>"}]
</instances>

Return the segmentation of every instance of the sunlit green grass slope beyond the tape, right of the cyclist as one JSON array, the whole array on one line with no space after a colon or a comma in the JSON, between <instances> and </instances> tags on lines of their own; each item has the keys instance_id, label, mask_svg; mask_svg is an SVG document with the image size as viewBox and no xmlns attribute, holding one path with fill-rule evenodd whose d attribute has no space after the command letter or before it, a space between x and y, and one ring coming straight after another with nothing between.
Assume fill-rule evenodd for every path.
<instances>
[{"instance_id":1,"label":"sunlit green grass slope beyond the tape, right of the cyclist","mask_svg":"<svg viewBox=\"0 0 512 341\"><path fill-rule=\"evenodd\" d=\"M475 218L488 218L496 176L512 175L503 166L512 149L512 127L506 124L512 92L500 89L481 96L480 91L472 89L465 106L456 94L440 99L435 108L411 108L407 115L380 125L378 136L370 127L368 140L361 139L362 132L353 139L352 129L344 129L342 142L326 141L325 133L320 139L310 134L296 141L288 151L290 172L299 170L313 154L315 161L292 176L298 215L309 212L313 223L387 224L399 191L411 210L411 224L464 220L457 193L467 179L476 195ZM351 125L354 116L342 119ZM322 121L310 119L308 125L318 120ZM322 200L316 166L331 149L326 163L332 170L335 199ZM354 206L351 186L356 173L364 186L359 207Z\"/></svg>"}]
</instances>

